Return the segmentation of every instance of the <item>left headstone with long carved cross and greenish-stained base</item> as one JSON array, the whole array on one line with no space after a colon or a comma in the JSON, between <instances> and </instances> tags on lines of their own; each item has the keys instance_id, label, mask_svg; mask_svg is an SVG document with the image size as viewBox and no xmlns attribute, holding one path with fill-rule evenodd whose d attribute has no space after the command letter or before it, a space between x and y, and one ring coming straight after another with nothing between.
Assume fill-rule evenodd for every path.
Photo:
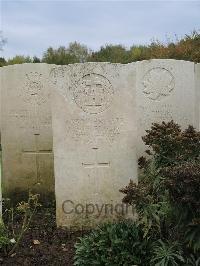
<instances>
[{"instance_id":1,"label":"left headstone with long carved cross and greenish-stained base","mask_svg":"<svg viewBox=\"0 0 200 266\"><path fill-rule=\"evenodd\" d=\"M3 191L54 191L49 66L4 67L2 74Z\"/></svg>"}]
</instances>

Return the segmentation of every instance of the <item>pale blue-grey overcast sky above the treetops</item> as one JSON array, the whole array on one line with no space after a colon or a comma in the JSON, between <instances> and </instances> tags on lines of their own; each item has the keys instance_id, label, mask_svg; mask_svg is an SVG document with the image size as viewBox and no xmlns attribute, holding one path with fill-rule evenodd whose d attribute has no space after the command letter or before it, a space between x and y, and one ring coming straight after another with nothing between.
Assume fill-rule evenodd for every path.
<instances>
[{"instance_id":1,"label":"pale blue-grey overcast sky above the treetops","mask_svg":"<svg viewBox=\"0 0 200 266\"><path fill-rule=\"evenodd\" d=\"M1 1L3 56L41 56L49 47L78 41L147 44L200 29L200 1Z\"/></svg>"}]
</instances>

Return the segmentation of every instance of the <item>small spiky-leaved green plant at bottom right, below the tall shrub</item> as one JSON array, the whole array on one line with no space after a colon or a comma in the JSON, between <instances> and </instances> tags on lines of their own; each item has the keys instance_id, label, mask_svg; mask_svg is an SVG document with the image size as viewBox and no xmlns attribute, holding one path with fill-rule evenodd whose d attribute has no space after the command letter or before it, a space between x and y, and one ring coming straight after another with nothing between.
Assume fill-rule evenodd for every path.
<instances>
[{"instance_id":1,"label":"small spiky-leaved green plant at bottom right, below the tall shrub","mask_svg":"<svg viewBox=\"0 0 200 266\"><path fill-rule=\"evenodd\" d=\"M159 240L153 249L153 266L176 266L184 262L183 252L177 242Z\"/></svg>"}]
</instances>

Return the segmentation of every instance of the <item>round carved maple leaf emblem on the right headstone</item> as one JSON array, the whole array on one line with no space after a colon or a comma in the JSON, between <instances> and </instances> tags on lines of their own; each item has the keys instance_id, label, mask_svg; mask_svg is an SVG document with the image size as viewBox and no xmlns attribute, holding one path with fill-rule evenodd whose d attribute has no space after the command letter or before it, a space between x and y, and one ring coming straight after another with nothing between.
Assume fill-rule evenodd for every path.
<instances>
[{"instance_id":1,"label":"round carved maple leaf emblem on the right headstone","mask_svg":"<svg viewBox=\"0 0 200 266\"><path fill-rule=\"evenodd\" d=\"M162 100L169 96L175 87L175 78L166 68L155 67L143 77L143 93L151 100Z\"/></svg>"}]
</instances>

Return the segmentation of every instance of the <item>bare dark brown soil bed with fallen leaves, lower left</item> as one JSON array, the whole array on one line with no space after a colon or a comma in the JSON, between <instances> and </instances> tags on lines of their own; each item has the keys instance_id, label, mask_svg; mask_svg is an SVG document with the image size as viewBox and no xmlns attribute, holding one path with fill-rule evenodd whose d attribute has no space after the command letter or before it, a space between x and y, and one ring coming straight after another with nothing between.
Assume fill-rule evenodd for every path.
<instances>
[{"instance_id":1,"label":"bare dark brown soil bed with fallen leaves, lower left","mask_svg":"<svg viewBox=\"0 0 200 266\"><path fill-rule=\"evenodd\" d=\"M23 213L17 212L11 229L9 218L10 231L20 231L22 220ZM82 235L83 231L57 228L54 204L38 207L16 250L8 255L14 244L1 249L0 265L73 265L74 244Z\"/></svg>"}]
</instances>

